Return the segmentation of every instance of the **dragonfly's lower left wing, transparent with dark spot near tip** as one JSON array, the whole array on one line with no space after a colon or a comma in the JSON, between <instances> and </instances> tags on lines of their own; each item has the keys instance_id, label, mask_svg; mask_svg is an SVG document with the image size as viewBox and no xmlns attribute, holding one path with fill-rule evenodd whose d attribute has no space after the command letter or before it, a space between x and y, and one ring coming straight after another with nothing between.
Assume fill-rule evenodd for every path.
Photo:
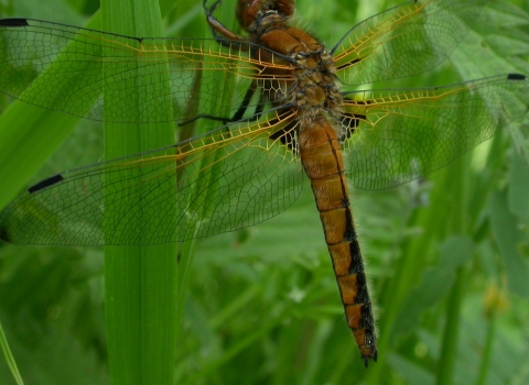
<instances>
[{"instance_id":1,"label":"dragonfly's lower left wing, transparent with dark spot near tip","mask_svg":"<svg viewBox=\"0 0 529 385\"><path fill-rule=\"evenodd\" d=\"M301 191L298 157L269 139L292 120L287 113L271 123L234 124L55 175L6 208L0 238L19 244L160 244L264 221Z\"/></svg>"}]
</instances>

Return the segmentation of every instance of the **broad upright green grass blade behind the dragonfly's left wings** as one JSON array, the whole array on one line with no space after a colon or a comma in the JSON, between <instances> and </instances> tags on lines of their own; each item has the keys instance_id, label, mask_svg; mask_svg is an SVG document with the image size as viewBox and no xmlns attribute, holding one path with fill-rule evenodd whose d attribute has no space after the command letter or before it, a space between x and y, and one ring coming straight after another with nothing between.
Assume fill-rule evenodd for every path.
<instances>
[{"instance_id":1,"label":"broad upright green grass blade behind the dragonfly's left wings","mask_svg":"<svg viewBox=\"0 0 529 385\"><path fill-rule=\"evenodd\" d=\"M132 36L161 36L161 18L158 1L105 1L101 4L102 25L114 33ZM119 37L117 37L119 40ZM105 52L107 57L122 56L125 52ZM141 111L149 103L160 103L156 92L166 95L169 87L169 65L160 62L153 70L152 79L147 78L145 86L136 84L134 73L141 73L149 63L129 58L130 77L122 79L119 68L112 61L104 64L105 76L116 76L108 82L105 92L105 114L117 117L120 103L127 105L136 117L127 117L138 123L107 123L105 127L105 156L116 158L143 151L170 145L174 142L173 127L170 123L140 124ZM136 64L136 67L134 67ZM119 66L118 66L119 67ZM154 68L150 68L154 69ZM114 72L114 73L112 73ZM151 74L151 73L149 73ZM156 89L158 87L158 89ZM127 89L128 91L123 91ZM161 107L156 105L156 107ZM169 101L163 106L166 117L172 117ZM143 119L144 120L144 119ZM134 179L122 178L115 173L105 180L106 199L114 191L126 190L131 201L137 196L145 197L148 184L131 183L149 177L148 167L126 173ZM144 174L143 174L144 173ZM116 175L118 174L118 175ZM112 178L114 177L114 178ZM176 175L165 178L159 186L164 190L175 190ZM111 188L109 188L111 186ZM136 199L136 200L134 200ZM111 202L111 200L110 200ZM154 202L156 204L156 202ZM171 209L159 201L159 206L147 209L141 205L106 205L105 228L121 229L137 239L137 244L149 244L143 240L153 233L161 218L171 218ZM127 213L123 223L122 216ZM176 345L176 246L174 244L155 246L105 248L105 296L108 333L109 366L114 384L172 384L174 346Z\"/></svg>"}]
</instances>

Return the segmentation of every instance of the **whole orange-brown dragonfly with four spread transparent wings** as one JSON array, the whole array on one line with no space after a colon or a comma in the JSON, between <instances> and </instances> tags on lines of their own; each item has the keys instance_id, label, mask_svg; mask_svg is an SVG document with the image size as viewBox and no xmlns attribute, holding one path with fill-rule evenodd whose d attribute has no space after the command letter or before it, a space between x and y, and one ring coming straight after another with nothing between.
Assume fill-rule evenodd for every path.
<instances>
[{"instance_id":1,"label":"whole orange-brown dragonfly with four spread transparent wings","mask_svg":"<svg viewBox=\"0 0 529 385\"><path fill-rule=\"evenodd\" d=\"M210 38L0 20L4 94L107 123L213 128L41 180L0 213L0 239L184 242L274 217L309 178L346 323L367 366L378 358L377 337L349 186L387 189L445 166L522 118L529 95L522 74L376 85L446 62L486 3L406 2L352 26L332 47L289 24L293 0L238 0L244 34L217 20L220 2L204 0ZM140 102L123 102L123 92Z\"/></svg>"}]
</instances>

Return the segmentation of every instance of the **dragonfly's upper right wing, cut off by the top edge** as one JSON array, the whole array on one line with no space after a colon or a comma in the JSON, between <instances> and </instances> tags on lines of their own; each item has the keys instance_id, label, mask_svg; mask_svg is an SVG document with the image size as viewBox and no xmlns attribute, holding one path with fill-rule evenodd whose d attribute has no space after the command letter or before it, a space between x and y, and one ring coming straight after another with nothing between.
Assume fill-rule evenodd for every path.
<instances>
[{"instance_id":1,"label":"dragonfly's upper right wing, cut off by the top edge","mask_svg":"<svg viewBox=\"0 0 529 385\"><path fill-rule=\"evenodd\" d=\"M344 84L422 74L449 58L488 0L410 1L354 26L334 58Z\"/></svg>"}]
</instances>

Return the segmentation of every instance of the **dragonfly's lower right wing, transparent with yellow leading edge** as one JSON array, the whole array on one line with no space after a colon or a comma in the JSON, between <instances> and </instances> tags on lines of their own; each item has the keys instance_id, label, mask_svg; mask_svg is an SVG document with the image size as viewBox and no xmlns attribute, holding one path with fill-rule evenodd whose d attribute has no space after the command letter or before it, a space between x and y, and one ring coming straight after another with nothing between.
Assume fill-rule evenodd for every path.
<instances>
[{"instance_id":1,"label":"dragonfly's lower right wing, transparent with yellow leading edge","mask_svg":"<svg viewBox=\"0 0 529 385\"><path fill-rule=\"evenodd\" d=\"M347 94L348 177L358 188L379 190L436 170L521 118L528 92L525 76L503 75L446 87Z\"/></svg>"}]
</instances>

